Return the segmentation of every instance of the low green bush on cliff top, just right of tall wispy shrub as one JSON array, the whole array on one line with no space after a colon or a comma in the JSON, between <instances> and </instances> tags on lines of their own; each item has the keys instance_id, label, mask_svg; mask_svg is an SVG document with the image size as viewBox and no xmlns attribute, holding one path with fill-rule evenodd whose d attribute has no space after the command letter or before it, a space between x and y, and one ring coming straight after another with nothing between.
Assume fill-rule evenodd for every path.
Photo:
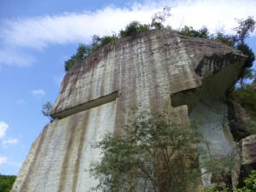
<instances>
[{"instance_id":1,"label":"low green bush on cliff top, just right of tall wispy shrub","mask_svg":"<svg viewBox=\"0 0 256 192\"><path fill-rule=\"evenodd\" d=\"M203 26L200 30L195 30L192 26L184 26L179 33L193 38L209 38L206 26Z\"/></svg>"}]
</instances>

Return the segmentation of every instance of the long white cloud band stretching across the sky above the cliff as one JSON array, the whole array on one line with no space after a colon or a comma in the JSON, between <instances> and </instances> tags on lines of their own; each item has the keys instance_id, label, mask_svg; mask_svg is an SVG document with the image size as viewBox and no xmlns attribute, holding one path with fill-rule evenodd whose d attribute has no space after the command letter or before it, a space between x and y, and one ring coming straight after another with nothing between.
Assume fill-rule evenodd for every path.
<instances>
[{"instance_id":1,"label":"long white cloud band stretching across the sky above the cliff","mask_svg":"<svg viewBox=\"0 0 256 192\"><path fill-rule=\"evenodd\" d=\"M237 25L234 18L246 19L248 15L256 17L254 0L145 0L143 3L130 4L130 8L108 6L94 12L4 20L0 26L0 64L29 66L35 60L20 49L45 49L53 44L89 43L92 35L119 32L131 20L149 23L151 16L164 5L172 7L172 17L166 24L175 29L184 25L199 29L205 25L214 32L224 26L224 30L231 33L231 29ZM255 34L256 32L253 33Z\"/></svg>"}]
</instances>

